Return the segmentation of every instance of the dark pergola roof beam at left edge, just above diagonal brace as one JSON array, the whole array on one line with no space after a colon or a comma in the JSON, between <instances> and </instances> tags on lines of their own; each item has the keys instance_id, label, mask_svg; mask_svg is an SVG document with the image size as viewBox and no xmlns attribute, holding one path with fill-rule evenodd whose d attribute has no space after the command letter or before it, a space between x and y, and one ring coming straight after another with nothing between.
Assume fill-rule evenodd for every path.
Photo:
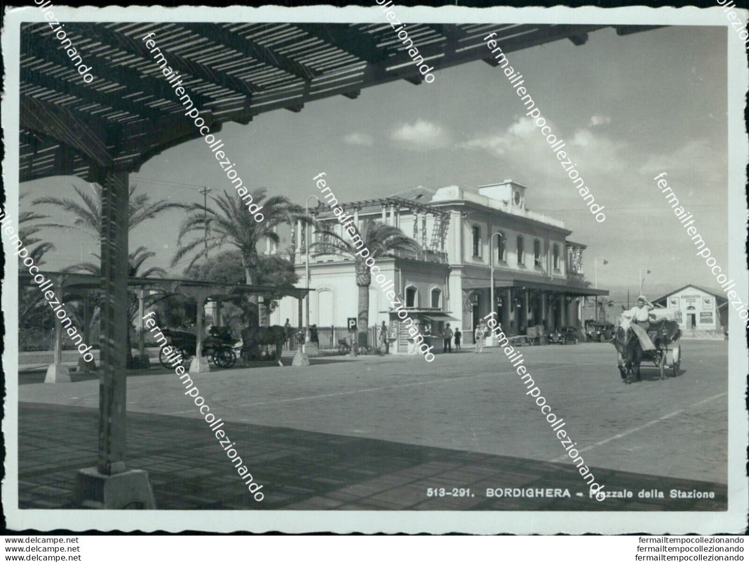
<instances>
[{"instance_id":1,"label":"dark pergola roof beam at left edge, just above diagonal brace","mask_svg":"<svg viewBox=\"0 0 749 562\"><path fill-rule=\"evenodd\" d=\"M124 99L118 95L117 91L103 94L97 91L96 86L85 85L82 76L76 75L74 80L63 80L55 78L46 72L24 67L21 69L21 81L30 85L41 86L60 94L77 97L84 103L98 103L100 106L109 107L118 112L127 112L139 117L154 119L164 114L158 109L146 106L145 103Z\"/></svg>"}]
</instances>

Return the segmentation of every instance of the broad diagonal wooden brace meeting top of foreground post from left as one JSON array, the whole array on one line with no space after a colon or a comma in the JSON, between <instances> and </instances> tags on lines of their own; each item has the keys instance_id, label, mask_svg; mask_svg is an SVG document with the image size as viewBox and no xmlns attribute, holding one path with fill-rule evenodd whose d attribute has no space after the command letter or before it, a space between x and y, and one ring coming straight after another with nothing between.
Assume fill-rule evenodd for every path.
<instances>
[{"instance_id":1,"label":"broad diagonal wooden brace meeting top of foreground post from left","mask_svg":"<svg viewBox=\"0 0 749 562\"><path fill-rule=\"evenodd\" d=\"M25 94L21 94L19 113L21 126L75 148L102 167L114 165L106 139L112 129L119 128L115 123L106 123L91 115L79 117L70 109Z\"/></svg>"}]
</instances>

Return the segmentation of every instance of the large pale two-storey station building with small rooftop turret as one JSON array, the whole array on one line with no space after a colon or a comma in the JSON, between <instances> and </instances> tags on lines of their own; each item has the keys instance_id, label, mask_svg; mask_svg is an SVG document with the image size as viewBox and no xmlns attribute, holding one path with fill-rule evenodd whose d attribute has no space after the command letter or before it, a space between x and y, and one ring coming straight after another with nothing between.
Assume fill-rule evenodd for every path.
<instances>
[{"instance_id":1,"label":"large pale two-storey station building with small rooftop turret","mask_svg":"<svg viewBox=\"0 0 749 562\"><path fill-rule=\"evenodd\" d=\"M473 342L482 317L497 313L508 334L524 334L530 326L580 326L583 297L604 296L606 290L586 287L583 251L586 246L568 239L571 230L561 219L528 210L527 187L512 180L478 188L449 186L433 191L423 187L389 198L339 204L354 216L354 224L372 219L399 227L412 236L422 252L395 253L377 260L380 272L392 279L409 314L417 323L431 322L432 332L446 322ZM318 219L330 221L347 236L327 207ZM309 227L310 243L322 233ZM305 287L306 236L297 225L294 266ZM494 267L494 304L491 267ZM357 316L358 287L354 262L341 256L309 254L309 323L346 326ZM369 287L369 323L389 324L397 334L395 314L386 291L374 278ZM296 301L285 299L271 322L294 324ZM395 332L393 332L395 330Z\"/></svg>"}]
</instances>

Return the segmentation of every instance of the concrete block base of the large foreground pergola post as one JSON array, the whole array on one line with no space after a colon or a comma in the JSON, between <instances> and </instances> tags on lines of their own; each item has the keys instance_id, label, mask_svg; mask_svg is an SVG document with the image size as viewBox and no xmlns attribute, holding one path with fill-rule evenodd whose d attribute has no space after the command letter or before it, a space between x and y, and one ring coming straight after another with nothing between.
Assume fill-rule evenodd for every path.
<instances>
[{"instance_id":1,"label":"concrete block base of the large foreground pergola post","mask_svg":"<svg viewBox=\"0 0 749 562\"><path fill-rule=\"evenodd\" d=\"M76 475L73 501L89 509L156 509L154 491L145 470L128 470L107 476L99 474L96 467L82 468Z\"/></svg>"}]
</instances>

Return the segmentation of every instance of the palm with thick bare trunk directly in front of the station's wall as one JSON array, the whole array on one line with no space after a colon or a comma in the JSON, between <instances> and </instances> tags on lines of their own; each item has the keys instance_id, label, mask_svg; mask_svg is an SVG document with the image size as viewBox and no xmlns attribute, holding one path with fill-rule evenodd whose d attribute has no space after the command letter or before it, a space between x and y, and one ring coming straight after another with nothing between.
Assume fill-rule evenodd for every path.
<instances>
[{"instance_id":1,"label":"palm with thick bare trunk directly in front of the station's wall","mask_svg":"<svg viewBox=\"0 0 749 562\"><path fill-rule=\"evenodd\" d=\"M318 225L322 230L326 225ZM357 316L357 329L366 332L369 329L369 285L372 284L372 272L365 263L365 258L359 255L357 248L351 239L339 236L331 230L324 230L324 239L315 242L312 248L320 254L338 254L354 260L354 268L357 272L357 287L359 287L359 314ZM369 248L369 257L375 261L380 257L389 255L392 251L422 251L421 246L409 236L406 236L400 228L383 225L380 222L366 220L360 229L360 236L364 240L363 248Z\"/></svg>"}]
</instances>

